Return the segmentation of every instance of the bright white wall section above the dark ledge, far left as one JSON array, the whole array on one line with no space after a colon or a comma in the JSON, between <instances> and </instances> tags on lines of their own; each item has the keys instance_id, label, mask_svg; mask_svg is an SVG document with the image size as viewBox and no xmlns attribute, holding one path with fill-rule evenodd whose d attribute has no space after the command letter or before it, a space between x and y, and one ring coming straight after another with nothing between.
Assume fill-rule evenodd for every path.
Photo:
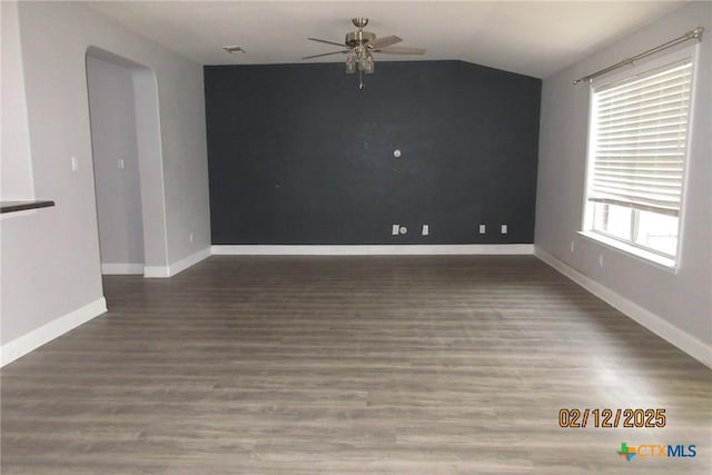
<instances>
[{"instance_id":1,"label":"bright white wall section above the dark ledge, far left","mask_svg":"<svg viewBox=\"0 0 712 475\"><path fill-rule=\"evenodd\" d=\"M24 75L20 52L18 9L14 2L0 2L2 80L2 151L0 156L0 199L4 201L32 199L32 162L27 127Z\"/></svg>"}]
</instances>

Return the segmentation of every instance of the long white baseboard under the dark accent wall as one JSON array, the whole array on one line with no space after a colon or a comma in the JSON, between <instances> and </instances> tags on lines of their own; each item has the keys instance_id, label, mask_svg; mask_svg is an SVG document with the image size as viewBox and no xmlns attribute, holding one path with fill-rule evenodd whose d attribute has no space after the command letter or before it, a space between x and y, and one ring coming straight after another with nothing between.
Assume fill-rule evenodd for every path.
<instances>
[{"instance_id":1,"label":"long white baseboard under the dark accent wall","mask_svg":"<svg viewBox=\"0 0 712 475\"><path fill-rule=\"evenodd\" d=\"M214 255L240 256L441 256L532 255L532 244L464 245L214 245Z\"/></svg>"}]
</instances>

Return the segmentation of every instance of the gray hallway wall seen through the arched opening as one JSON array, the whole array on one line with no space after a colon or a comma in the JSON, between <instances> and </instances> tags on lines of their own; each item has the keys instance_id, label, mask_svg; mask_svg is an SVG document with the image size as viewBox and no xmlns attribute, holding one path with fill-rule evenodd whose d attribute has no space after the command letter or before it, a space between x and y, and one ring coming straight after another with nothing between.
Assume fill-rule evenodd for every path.
<instances>
[{"instance_id":1,"label":"gray hallway wall seen through the arched opening","mask_svg":"<svg viewBox=\"0 0 712 475\"><path fill-rule=\"evenodd\" d=\"M87 81L102 268L138 264L142 275L144 225L132 72L89 55Z\"/></svg>"}]
</instances>

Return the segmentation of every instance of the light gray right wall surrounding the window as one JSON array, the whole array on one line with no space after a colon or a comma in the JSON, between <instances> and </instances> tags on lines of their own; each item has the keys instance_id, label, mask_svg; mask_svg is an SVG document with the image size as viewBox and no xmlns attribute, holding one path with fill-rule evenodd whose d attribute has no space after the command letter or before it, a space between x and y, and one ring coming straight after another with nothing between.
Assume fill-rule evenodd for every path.
<instances>
[{"instance_id":1,"label":"light gray right wall surrounding the window","mask_svg":"<svg viewBox=\"0 0 712 475\"><path fill-rule=\"evenodd\" d=\"M581 230L589 87L572 81L704 27L678 274L585 239ZM712 348L712 3L686 4L617 44L544 79L535 246L612 293L659 317L671 337ZM574 241L574 251L570 245ZM600 267L599 255L604 265ZM668 324L670 324L668 326ZM690 349L690 348L686 348ZM698 355L712 360L709 355Z\"/></svg>"}]
</instances>

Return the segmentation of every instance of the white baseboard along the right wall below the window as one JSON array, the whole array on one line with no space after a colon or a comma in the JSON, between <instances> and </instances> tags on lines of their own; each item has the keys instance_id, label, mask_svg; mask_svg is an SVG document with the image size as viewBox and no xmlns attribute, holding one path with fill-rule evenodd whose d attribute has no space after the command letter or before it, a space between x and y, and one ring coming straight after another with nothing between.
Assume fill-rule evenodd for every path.
<instances>
[{"instance_id":1,"label":"white baseboard along the right wall below the window","mask_svg":"<svg viewBox=\"0 0 712 475\"><path fill-rule=\"evenodd\" d=\"M700 360L705 366L712 368L712 347L696 338L694 335L690 335L689 333L681 330L659 315L655 315L649 309L641 307L620 294L616 294L610 288L593 280L591 277L584 276L576 269L567 266L540 248L535 248L534 254L541 260L548 264L551 267L599 297L601 300L622 311L631 319L637 321L659 337L668 340L672 345L685 352L688 355Z\"/></svg>"}]
</instances>

